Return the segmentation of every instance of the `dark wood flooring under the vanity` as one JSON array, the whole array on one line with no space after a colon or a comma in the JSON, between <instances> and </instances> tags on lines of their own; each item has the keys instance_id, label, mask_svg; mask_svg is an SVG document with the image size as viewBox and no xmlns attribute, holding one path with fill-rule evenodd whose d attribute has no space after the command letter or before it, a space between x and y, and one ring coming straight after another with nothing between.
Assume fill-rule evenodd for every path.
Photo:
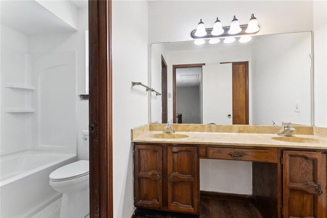
<instances>
[{"instance_id":1,"label":"dark wood flooring under the vanity","mask_svg":"<svg viewBox=\"0 0 327 218\"><path fill-rule=\"evenodd\" d=\"M133 218L193 218L192 214L169 213L155 210L136 210ZM200 218L262 218L250 201L201 198Z\"/></svg>"}]
</instances>

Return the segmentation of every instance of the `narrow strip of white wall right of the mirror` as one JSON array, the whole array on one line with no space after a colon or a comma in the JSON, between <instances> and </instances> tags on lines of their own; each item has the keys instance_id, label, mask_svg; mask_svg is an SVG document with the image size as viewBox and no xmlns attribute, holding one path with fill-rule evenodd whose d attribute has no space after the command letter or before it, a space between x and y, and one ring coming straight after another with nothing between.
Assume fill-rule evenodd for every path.
<instances>
[{"instance_id":1,"label":"narrow strip of white wall right of the mirror","mask_svg":"<svg viewBox=\"0 0 327 218\"><path fill-rule=\"evenodd\" d=\"M315 125L327 127L327 2L313 2Z\"/></svg>"}]
</instances>

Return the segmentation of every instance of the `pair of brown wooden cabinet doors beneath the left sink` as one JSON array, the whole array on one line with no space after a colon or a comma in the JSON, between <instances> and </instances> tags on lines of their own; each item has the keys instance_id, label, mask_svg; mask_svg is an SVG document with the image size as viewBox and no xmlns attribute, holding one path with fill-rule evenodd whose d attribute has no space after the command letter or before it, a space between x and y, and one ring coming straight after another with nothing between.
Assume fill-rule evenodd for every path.
<instances>
[{"instance_id":1,"label":"pair of brown wooden cabinet doors beneath the left sink","mask_svg":"<svg viewBox=\"0 0 327 218\"><path fill-rule=\"evenodd\" d=\"M198 213L197 146L134 145L135 207Z\"/></svg>"}]
</instances>

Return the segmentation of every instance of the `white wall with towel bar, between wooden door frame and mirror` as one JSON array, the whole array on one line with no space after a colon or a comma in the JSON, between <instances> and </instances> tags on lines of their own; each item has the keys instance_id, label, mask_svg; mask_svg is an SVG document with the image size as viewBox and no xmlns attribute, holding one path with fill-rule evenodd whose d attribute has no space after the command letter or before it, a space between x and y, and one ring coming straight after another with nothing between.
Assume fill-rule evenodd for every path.
<instances>
[{"instance_id":1,"label":"white wall with towel bar, between wooden door frame and mirror","mask_svg":"<svg viewBox=\"0 0 327 218\"><path fill-rule=\"evenodd\" d=\"M148 122L148 3L112 2L113 217L133 213L130 129ZM155 87L156 88L156 87ZM157 89L157 88L156 88Z\"/></svg>"}]
</instances>

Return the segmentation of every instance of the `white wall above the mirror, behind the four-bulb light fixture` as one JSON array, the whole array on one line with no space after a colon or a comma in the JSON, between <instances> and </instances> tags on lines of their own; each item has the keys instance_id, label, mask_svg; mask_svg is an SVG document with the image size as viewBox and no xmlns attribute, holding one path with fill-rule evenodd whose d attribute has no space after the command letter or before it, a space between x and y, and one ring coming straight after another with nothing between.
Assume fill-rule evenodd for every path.
<instances>
[{"instance_id":1,"label":"white wall above the mirror, behind the four-bulb light fixture","mask_svg":"<svg viewBox=\"0 0 327 218\"><path fill-rule=\"evenodd\" d=\"M233 15L240 24L258 19L258 34L312 30L311 1L152 1L149 2L149 42L191 40L200 18L212 27L216 17L229 26ZM291 18L290 18L291 17Z\"/></svg>"}]
</instances>

